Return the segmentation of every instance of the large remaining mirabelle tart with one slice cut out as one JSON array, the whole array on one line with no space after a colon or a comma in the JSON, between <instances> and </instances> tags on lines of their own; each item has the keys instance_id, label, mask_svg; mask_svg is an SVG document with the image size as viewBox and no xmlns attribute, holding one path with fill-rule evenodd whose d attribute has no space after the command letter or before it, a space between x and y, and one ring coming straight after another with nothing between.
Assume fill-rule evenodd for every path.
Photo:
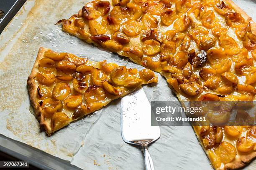
<instances>
[{"instance_id":1,"label":"large remaining mirabelle tart with one slice cut out","mask_svg":"<svg viewBox=\"0 0 256 170\"><path fill-rule=\"evenodd\" d=\"M256 100L256 24L231 0L95 0L60 23L65 32L160 72L182 105ZM237 121L246 114L239 111ZM256 157L255 126L194 129L215 169L242 168Z\"/></svg>"}]
</instances>

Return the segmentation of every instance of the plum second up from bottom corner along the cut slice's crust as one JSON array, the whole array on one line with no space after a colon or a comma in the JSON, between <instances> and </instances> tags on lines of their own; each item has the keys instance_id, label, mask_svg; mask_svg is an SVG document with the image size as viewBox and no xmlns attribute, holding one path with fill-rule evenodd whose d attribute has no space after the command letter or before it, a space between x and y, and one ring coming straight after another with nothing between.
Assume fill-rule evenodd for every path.
<instances>
[{"instance_id":1,"label":"plum second up from bottom corner along the cut slice's crust","mask_svg":"<svg viewBox=\"0 0 256 170\"><path fill-rule=\"evenodd\" d=\"M42 103L42 107L47 113L53 114L54 112L61 111L62 104L59 100L52 100L51 98L46 98Z\"/></svg>"}]
</instances>

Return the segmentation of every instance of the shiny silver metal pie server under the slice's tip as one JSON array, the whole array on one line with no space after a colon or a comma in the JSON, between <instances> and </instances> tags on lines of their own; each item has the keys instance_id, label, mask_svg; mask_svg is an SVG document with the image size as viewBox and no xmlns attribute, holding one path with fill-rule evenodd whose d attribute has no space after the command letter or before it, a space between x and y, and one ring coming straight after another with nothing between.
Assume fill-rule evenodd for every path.
<instances>
[{"instance_id":1,"label":"shiny silver metal pie server under the slice's tip","mask_svg":"<svg viewBox=\"0 0 256 170\"><path fill-rule=\"evenodd\" d=\"M160 137L160 128L151 126L151 106L143 88L122 98L121 132L125 143L144 148L146 170L154 170L148 144Z\"/></svg>"}]
</instances>

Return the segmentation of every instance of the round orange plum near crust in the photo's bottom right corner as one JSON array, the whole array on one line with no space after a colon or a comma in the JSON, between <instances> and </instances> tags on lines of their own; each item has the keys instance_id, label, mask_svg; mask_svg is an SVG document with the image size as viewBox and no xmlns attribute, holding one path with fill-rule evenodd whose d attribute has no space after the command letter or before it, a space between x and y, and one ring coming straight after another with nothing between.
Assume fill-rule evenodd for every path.
<instances>
[{"instance_id":1,"label":"round orange plum near crust in the photo's bottom right corner","mask_svg":"<svg viewBox=\"0 0 256 170\"><path fill-rule=\"evenodd\" d=\"M247 153L253 150L255 144L256 143L253 142L253 140L243 136L241 138L238 138L236 142L236 148L240 152Z\"/></svg>"}]
</instances>

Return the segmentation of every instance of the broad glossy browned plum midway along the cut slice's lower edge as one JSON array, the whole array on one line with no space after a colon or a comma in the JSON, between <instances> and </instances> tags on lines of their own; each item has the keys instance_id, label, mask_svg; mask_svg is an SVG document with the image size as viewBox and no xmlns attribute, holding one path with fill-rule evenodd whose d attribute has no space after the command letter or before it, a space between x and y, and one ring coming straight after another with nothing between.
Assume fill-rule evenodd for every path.
<instances>
[{"instance_id":1,"label":"broad glossy browned plum midway along the cut slice's lower edge","mask_svg":"<svg viewBox=\"0 0 256 170\"><path fill-rule=\"evenodd\" d=\"M88 103L99 102L105 100L106 93L102 87L92 85L86 90L84 98Z\"/></svg>"}]
</instances>

